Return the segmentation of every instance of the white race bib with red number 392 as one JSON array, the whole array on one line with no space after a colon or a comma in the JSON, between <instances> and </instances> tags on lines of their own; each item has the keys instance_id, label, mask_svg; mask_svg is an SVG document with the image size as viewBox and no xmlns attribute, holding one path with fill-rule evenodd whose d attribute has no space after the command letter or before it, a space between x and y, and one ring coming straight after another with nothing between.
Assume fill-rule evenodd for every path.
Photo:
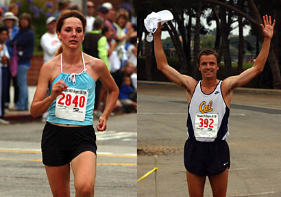
<instances>
[{"instance_id":1,"label":"white race bib with red number 392","mask_svg":"<svg viewBox=\"0 0 281 197\"><path fill-rule=\"evenodd\" d=\"M195 137L217 137L218 119L217 114L196 114Z\"/></svg>"}]
</instances>

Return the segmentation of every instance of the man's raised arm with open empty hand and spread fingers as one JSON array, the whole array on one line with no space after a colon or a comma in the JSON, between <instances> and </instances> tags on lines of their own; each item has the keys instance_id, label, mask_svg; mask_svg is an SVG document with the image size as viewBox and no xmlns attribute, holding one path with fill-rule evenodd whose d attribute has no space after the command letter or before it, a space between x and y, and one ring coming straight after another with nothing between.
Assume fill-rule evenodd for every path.
<instances>
[{"instance_id":1,"label":"man's raised arm with open empty hand and spread fingers","mask_svg":"<svg viewBox=\"0 0 281 197\"><path fill-rule=\"evenodd\" d=\"M268 17L267 15L265 15L263 16L263 23L264 25L260 24L260 27L262 27L262 32L265 36L265 40L263 41L260 54L258 54L258 57L256 58L256 62L254 62L252 68L245 70L240 75L228 77L223 81L223 86L225 86L227 92L233 91L235 88L239 88L249 83L249 81L260 74L265 67L265 62L267 62L267 57L269 55L270 42L273 36L273 29L276 21L274 20L273 23L271 23L271 16Z\"/></svg>"}]
</instances>

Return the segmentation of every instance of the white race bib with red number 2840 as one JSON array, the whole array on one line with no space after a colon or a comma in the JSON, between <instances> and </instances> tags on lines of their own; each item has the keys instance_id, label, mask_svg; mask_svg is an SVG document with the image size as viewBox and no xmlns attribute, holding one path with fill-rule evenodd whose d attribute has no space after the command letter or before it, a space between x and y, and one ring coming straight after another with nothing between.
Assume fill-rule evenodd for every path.
<instances>
[{"instance_id":1,"label":"white race bib with red number 2840","mask_svg":"<svg viewBox=\"0 0 281 197\"><path fill-rule=\"evenodd\" d=\"M84 121L88 90L67 88L56 99L56 117Z\"/></svg>"}]
</instances>

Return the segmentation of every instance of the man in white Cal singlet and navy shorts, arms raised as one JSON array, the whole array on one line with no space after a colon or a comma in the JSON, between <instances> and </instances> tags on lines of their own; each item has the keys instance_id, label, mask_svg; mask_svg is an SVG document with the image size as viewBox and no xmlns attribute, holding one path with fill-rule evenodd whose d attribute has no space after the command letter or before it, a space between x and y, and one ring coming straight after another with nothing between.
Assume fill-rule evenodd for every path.
<instances>
[{"instance_id":1,"label":"man in white Cal singlet and navy shorts, arms raised","mask_svg":"<svg viewBox=\"0 0 281 197\"><path fill-rule=\"evenodd\" d=\"M188 140L184 146L184 166L190 196L203 196L206 176L213 196L226 196L230 152L225 142L228 137L230 101L235 88L249 83L262 72L269 54L273 28L271 16L263 16L262 32L265 40L252 68L223 81L217 79L219 55L212 49L203 49L198 55L201 81L180 74L169 66L161 43L161 23L154 33L157 68L171 81L184 88L188 101Z\"/></svg>"}]
</instances>

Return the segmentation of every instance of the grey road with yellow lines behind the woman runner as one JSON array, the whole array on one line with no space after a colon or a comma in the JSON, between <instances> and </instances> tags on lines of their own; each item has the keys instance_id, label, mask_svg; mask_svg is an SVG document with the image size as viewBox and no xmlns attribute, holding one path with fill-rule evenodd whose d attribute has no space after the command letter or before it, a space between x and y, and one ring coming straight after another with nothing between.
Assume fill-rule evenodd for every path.
<instances>
[{"instance_id":1,"label":"grey road with yellow lines behind the woman runner","mask_svg":"<svg viewBox=\"0 0 281 197\"><path fill-rule=\"evenodd\" d=\"M44 124L0 126L1 197L51 196L40 154ZM96 133L95 196L136 196L136 114L110 117L107 131ZM72 173L71 196L75 196Z\"/></svg>"}]
</instances>

